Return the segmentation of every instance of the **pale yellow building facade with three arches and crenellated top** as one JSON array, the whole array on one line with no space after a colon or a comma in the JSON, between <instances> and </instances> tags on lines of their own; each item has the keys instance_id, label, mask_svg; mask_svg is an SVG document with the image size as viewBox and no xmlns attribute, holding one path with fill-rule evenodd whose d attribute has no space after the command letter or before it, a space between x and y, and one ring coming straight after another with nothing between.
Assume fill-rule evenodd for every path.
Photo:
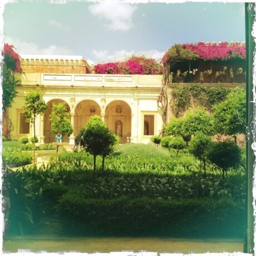
<instances>
[{"instance_id":1,"label":"pale yellow building facade with three arches and crenellated top","mask_svg":"<svg viewBox=\"0 0 256 256\"><path fill-rule=\"evenodd\" d=\"M65 102L73 133L63 142L75 144L75 137L92 115L101 116L107 127L120 137L120 143L148 143L163 127L157 98L161 75L99 75L90 73L82 56L21 55L23 72L17 76L18 95L8 110L12 139L32 137L32 126L24 119L24 98L40 90L48 104L44 115L36 118L40 144L55 141L49 116L52 104Z\"/></svg>"}]
</instances>

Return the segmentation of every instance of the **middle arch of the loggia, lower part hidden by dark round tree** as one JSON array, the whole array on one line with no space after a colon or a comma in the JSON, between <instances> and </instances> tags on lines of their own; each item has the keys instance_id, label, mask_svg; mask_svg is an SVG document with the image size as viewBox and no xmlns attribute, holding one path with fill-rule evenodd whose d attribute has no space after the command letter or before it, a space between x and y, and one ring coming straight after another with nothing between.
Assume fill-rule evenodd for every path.
<instances>
[{"instance_id":1,"label":"middle arch of the loggia, lower part hidden by dark round tree","mask_svg":"<svg viewBox=\"0 0 256 256\"><path fill-rule=\"evenodd\" d=\"M82 100L76 105L74 135L85 127L91 116L101 116L100 105L94 100Z\"/></svg>"}]
</instances>

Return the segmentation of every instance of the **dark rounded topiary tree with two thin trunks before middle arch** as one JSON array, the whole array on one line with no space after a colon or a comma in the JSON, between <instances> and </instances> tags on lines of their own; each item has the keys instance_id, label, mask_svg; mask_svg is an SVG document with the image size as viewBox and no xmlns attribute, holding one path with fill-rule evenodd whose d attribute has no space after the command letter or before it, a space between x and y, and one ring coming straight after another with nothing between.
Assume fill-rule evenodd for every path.
<instances>
[{"instance_id":1,"label":"dark rounded topiary tree with two thin trunks before middle arch","mask_svg":"<svg viewBox=\"0 0 256 256\"><path fill-rule=\"evenodd\" d=\"M93 155L93 176L96 173L96 156L111 154L117 144L116 136L106 127L100 116L92 116L80 133L80 145ZM104 160L102 160L104 165ZM102 166L104 170L104 166Z\"/></svg>"}]
</instances>

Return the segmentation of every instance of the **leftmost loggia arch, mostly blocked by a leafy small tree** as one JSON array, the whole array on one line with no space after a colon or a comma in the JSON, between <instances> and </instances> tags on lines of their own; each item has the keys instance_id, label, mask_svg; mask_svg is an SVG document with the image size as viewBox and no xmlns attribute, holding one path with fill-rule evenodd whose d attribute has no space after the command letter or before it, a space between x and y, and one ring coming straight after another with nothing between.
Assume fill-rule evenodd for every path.
<instances>
[{"instance_id":1,"label":"leftmost loggia arch, mostly blocked by a leafy small tree","mask_svg":"<svg viewBox=\"0 0 256 256\"><path fill-rule=\"evenodd\" d=\"M51 121L49 119L52 112L52 104L65 103L67 106L67 111L70 112L70 106L65 100L53 99L47 102L48 107L43 116L43 135L45 136L45 143L55 142L55 134L51 132ZM68 136L63 136L63 142L68 142Z\"/></svg>"}]
</instances>

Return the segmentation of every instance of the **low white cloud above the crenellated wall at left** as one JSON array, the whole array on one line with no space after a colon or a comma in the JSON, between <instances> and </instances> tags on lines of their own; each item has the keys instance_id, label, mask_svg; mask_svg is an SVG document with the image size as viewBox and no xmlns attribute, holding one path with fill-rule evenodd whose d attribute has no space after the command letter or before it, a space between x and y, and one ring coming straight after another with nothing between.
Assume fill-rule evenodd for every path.
<instances>
[{"instance_id":1,"label":"low white cloud above the crenellated wall at left","mask_svg":"<svg viewBox=\"0 0 256 256\"><path fill-rule=\"evenodd\" d=\"M4 42L13 45L19 54L42 54L42 55L73 55L73 51L66 46L50 45L46 48L38 46L36 43L23 42L18 38L4 37Z\"/></svg>"}]
</instances>

